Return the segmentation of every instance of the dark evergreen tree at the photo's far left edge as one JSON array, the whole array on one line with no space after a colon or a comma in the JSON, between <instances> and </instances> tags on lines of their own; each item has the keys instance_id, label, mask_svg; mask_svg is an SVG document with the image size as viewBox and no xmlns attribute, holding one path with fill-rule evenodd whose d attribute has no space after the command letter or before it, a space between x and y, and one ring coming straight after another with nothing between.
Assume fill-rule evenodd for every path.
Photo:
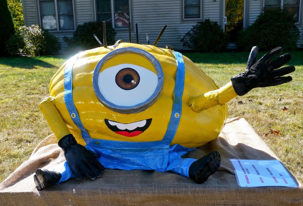
<instances>
[{"instance_id":1,"label":"dark evergreen tree at the photo's far left edge","mask_svg":"<svg viewBox=\"0 0 303 206\"><path fill-rule=\"evenodd\" d=\"M14 33L14 23L8 10L7 0L0 0L0 56L7 55L5 43Z\"/></svg>"}]
</instances>

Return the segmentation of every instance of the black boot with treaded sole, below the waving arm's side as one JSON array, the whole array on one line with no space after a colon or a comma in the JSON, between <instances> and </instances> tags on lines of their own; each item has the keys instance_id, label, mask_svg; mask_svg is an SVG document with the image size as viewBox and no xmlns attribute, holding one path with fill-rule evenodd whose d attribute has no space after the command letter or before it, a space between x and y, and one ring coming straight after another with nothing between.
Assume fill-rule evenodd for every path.
<instances>
[{"instance_id":1,"label":"black boot with treaded sole, below the waving arm's side","mask_svg":"<svg viewBox=\"0 0 303 206\"><path fill-rule=\"evenodd\" d=\"M209 176L218 170L221 164L221 156L218 151L213 151L204 157L194 161L188 170L188 175L196 183L204 183Z\"/></svg>"}]
</instances>

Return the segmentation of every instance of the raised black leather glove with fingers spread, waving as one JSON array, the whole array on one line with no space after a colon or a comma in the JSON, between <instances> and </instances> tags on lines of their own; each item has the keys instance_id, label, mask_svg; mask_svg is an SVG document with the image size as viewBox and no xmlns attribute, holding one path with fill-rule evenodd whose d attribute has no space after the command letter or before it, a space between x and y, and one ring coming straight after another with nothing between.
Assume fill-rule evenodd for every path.
<instances>
[{"instance_id":1,"label":"raised black leather glove with fingers spread, waving","mask_svg":"<svg viewBox=\"0 0 303 206\"><path fill-rule=\"evenodd\" d=\"M291 81L291 76L282 76L295 71L295 67L288 66L280 68L291 60L291 55L285 54L271 61L271 59L278 56L281 51L282 47L277 47L256 62L258 47L253 47L248 57L245 71L231 78L232 86L237 95L245 95L253 88L276 86Z\"/></svg>"}]
</instances>

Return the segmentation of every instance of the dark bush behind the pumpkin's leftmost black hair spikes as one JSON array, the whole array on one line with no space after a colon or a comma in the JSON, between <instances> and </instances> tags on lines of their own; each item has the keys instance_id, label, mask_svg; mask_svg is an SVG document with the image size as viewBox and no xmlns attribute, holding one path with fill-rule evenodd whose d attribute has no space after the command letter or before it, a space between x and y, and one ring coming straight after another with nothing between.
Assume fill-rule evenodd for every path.
<instances>
[{"instance_id":1,"label":"dark bush behind the pumpkin's leftmost black hair spikes","mask_svg":"<svg viewBox=\"0 0 303 206\"><path fill-rule=\"evenodd\" d=\"M101 21L97 22L85 22L83 25L79 25L73 34L73 37L64 37L63 40L68 44L68 49L92 49L100 47L99 43L93 36L95 34L103 44L103 25ZM107 45L113 45L115 43L115 36L117 32L112 28L112 25L106 25L106 42Z\"/></svg>"}]
</instances>

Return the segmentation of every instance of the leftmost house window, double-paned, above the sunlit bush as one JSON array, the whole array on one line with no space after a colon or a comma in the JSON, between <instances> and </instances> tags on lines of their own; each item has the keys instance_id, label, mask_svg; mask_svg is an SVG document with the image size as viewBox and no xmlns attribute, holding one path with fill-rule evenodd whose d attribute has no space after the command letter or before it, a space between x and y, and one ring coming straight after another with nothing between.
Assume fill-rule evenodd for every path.
<instances>
[{"instance_id":1,"label":"leftmost house window, double-paned, above the sunlit bush","mask_svg":"<svg viewBox=\"0 0 303 206\"><path fill-rule=\"evenodd\" d=\"M38 3L42 28L49 31L75 30L72 0L41 0Z\"/></svg>"}]
</instances>

